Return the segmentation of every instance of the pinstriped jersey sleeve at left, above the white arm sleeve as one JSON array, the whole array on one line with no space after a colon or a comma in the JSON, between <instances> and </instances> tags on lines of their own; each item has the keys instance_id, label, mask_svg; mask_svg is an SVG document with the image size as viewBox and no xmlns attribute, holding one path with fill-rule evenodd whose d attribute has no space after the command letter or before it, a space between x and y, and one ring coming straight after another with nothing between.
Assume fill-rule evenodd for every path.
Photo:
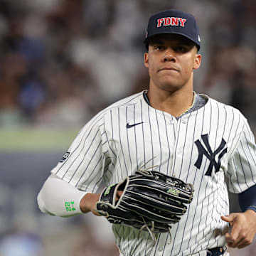
<instances>
[{"instance_id":1,"label":"pinstriped jersey sleeve at left, above the white arm sleeve","mask_svg":"<svg viewBox=\"0 0 256 256\"><path fill-rule=\"evenodd\" d=\"M88 122L51 173L82 191L95 193L106 167L104 127L104 116Z\"/></svg>"}]
</instances>

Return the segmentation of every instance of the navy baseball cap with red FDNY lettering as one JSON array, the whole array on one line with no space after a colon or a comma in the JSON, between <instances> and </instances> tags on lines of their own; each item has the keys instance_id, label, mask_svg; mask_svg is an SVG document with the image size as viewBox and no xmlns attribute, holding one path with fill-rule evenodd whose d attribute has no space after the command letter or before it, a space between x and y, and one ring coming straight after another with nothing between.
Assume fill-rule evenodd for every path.
<instances>
[{"instance_id":1,"label":"navy baseball cap with red FDNY lettering","mask_svg":"<svg viewBox=\"0 0 256 256\"><path fill-rule=\"evenodd\" d=\"M199 29L196 18L192 14L174 9L154 14L149 18L144 44L148 46L151 36L166 33L185 36L196 44L198 50L200 49L201 39Z\"/></svg>"}]
</instances>

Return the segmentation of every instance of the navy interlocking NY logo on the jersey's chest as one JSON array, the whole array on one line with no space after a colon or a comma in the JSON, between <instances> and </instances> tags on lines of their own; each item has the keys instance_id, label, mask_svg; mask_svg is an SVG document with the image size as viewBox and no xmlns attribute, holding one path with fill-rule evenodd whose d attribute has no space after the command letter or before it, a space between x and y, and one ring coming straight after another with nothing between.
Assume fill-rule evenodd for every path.
<instances>
[{"instance_id":1,"label":"navy interlocking NY logo on the jersey's chest","mask_svg":"<svg viewBox=\"0 0 256 256\"><path fill-rule=\"evenodd\" d=\"M195 142L196 146L198 148L198 159L196 160L195 166L200 169L202 160L203 160L203 155L207 157L207 159L210 161L210 165L208 167L208 170L206 171L207 176L211 176L212 171L213 171L213 166L215 168L215 173L220 171L220 159L224 156L225 153L227 153L228 149L224 148L225 142L224 139L221 140L220 146L218 146L218 149L215 151L212 151L210 148L209 140L208 140L208 134L203 134L201 135L201 138L203 139L203 144L205 144L206 148L199 142L199 139ZM215 156L218 155L218 162L215 161Z\"/></svg>"}]
</instances>

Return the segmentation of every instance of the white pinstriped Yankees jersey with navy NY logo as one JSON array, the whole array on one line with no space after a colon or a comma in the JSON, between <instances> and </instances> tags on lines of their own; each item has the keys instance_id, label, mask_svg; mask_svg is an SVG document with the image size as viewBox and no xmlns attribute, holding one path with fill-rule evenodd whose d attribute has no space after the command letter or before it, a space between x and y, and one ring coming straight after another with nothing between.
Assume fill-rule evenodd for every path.
<instances>
[{"instance_id":1,"label":"white pinstriped Yankees jersey with navy NY logo","mask_svg":"<svg viewBox=\"0 0 256 256\"><path fill-rule=\"evenodd\" d=\"M206 97L206 95L201 95ZM127 125L128 124L128 125ZM136 124L136 125L134 125ZM143 93L114 103L79 132L67 159L52 170L80 190L95 193L122 181L139 167L193 183L194 198L181 221L157 235L113 225L123 256L206 255L207 248L225 245L228 190L245 191L256 181L255 139L243 115L208 98L204 107L178 120L150 107Z\"/></svg>"}]
</instances>

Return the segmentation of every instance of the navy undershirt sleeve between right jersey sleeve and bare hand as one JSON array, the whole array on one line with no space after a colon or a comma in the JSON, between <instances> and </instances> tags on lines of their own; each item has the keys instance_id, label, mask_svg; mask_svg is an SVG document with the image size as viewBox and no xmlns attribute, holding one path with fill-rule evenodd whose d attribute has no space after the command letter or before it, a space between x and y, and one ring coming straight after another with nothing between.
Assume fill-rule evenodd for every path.
<instances>
[{"instance_id":1,"label":"navy undershirt sleeve between right jersey sleeve and bare hand","mask_svg":"<svg viewBox=\"0 0 256 256\"><path fill-rule=\"evenodd\" d=\"M243 212L254 210L256 212L256 185L238 194L238 201Z\"/></svg>"}]
</instances>

